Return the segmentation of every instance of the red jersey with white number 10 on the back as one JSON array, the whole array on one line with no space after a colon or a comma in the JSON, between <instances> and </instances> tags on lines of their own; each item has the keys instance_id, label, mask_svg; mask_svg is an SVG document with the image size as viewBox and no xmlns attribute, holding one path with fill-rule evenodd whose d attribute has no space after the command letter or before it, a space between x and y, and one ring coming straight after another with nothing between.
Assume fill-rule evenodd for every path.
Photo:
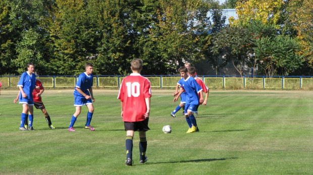
<instances>
[{"instance_id":1,"label":"red jersey with white number 10 on the back","mask_svg":"<svg viewBox=\"0 0 313 175\"><path fill-rule=\"evenodd\" d=\"M140 74L130 74L123 79L118 99L123 102L123 121L139 122L144 120L147 111L145 98L151 97L150 81Z\"/></svg>"}]
</instances>

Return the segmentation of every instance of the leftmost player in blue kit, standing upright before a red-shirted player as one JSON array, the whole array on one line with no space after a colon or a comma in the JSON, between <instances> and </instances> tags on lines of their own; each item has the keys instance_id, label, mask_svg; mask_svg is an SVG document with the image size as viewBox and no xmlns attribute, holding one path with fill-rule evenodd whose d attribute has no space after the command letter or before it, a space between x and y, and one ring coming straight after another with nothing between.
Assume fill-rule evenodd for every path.
<instances>
[{"instance_id":1,"label":"leftmost player in blue kit, standing upright before a red-shirted player","mask_svg":"<svg viewBox=\"0 0 313 175\"><path fill-rule=\"evenodd\" d=\"M33 90L36 87L36 75L32 73L34 69L34 64L28 63L27 72L24 72L21 75L21 78L17 84L20 89L19 103L23 105L23 110L21 114L21 125L19 128L21 131L34 130L32 127L34 112ZM29 129L26 129L24 127L27 111L29 112Z\"/></svg>"}]
</instances>

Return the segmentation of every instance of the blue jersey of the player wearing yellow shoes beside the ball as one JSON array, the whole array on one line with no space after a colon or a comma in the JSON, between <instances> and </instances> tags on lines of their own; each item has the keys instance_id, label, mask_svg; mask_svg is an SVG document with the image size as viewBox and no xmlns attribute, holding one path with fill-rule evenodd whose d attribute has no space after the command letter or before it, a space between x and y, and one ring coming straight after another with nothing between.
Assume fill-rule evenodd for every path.
<instances>
[{"instance_id":1,"label":"blue jersey of the player wearing yellow shoes beside the ball","mask_svg":"<svg viewBox=\"0 0 313 175\"><path fill-rule=\"evenodd\" d=\"M183 87L187 93L187 104L199 104L198 93L202 91L202 88L193 77L188 76L186 80L181 79L178 84Z\"/></svg>"}]
</instances>

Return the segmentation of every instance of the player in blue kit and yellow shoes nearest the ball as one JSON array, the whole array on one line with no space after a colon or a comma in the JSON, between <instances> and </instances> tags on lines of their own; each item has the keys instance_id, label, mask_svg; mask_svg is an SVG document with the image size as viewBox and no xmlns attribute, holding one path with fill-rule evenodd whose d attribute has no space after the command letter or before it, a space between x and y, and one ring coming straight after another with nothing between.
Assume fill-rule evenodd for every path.
<instances>
[{"instance_id":1,"label":"player in blue kit and yellow shoes nearest the ball","mask_svg":"<svg viewBox=\"0 0 313 175\"><path fill-rule=\"evenodd\" d=\"M197 106L199 102L203 102L203 95L200 93L200 97L198 95L199 92L202 92L202 88L200 85L195 81L193 77L188 76L187 68L181 67L179 68L179 74L181 75L182 79L178 82L178 84L183 88L179 91L177 96L174 98L174 102L177 101L178 97L183 93L185 90L187 93L186 99L186 107L185 107L185 116L186 121L188 123L189 129L187 133L193 133L197 130L197 125L195 121L195 117L193 115L194 112L197 112Z\"/></svg>"}]
</instances>

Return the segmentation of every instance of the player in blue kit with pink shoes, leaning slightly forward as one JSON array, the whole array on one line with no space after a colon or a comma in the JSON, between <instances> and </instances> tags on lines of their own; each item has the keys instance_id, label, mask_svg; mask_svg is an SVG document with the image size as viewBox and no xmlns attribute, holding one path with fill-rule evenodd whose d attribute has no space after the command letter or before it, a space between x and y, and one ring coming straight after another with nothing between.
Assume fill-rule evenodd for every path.
<instances>
[{"instance_id":1,"label":"player in blue kit with pink shoes, leaning slightly forward","mask_svg":"<svg viewBox=\"0 0 313 175\"><path fill-rule=\"evenodd\" d=\"M90 126L92 114L93 114L93 104L92 102L95 101L93 98L93 93L92 93L92 84L93 84L93 65L91 63L86 63L85 67L85 72L81 73L78 77L76 86L75 86L75 91L74 91L74 106L76 106L76 111L72 115L71 123L69 126L68 131L76 131L73 129L73 126L76 122L76 119L78 115L81 112L81 106L86 105L88 108L88 113L87 113L87 120L86 120L86 125L85 129L89 129L91 131L94 131L95 129Z\"/></svg>"}]
</instances>

